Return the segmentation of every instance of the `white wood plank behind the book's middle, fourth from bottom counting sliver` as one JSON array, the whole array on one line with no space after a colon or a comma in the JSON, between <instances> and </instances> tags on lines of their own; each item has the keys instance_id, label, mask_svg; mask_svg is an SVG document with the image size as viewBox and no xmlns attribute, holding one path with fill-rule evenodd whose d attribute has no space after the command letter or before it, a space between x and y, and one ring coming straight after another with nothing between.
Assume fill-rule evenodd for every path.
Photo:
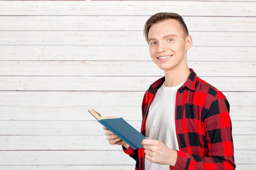
<instances>
[{"instance_id":1,"label":"white wood plank behind the book's middle, fourth from bottom counting sliver","mask_svg":"<svg viewBox=\"0 0 256 170\"><path fill-rule=\"evenodd\" d=\"M85 116L90 116L85 114ZM141 121L128 121L140 131ZM256 121L232 121L233 135L256 135ZM0 135L105 135L94 121L1 121Z\"/></svg>"}]
</instances>

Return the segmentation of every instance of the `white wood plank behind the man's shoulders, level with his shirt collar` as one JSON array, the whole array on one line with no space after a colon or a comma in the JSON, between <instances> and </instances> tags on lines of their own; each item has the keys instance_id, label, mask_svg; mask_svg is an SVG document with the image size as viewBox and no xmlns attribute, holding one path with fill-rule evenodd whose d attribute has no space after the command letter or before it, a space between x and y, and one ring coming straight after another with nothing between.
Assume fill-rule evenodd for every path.
<instances>
[{"instance_id":1,"label":"white wood plank behind the man's shoulders, level with his shirt collar","mask_svg":"<svg viewBox=\"0 0 256 170\"><path fill-rule=\"evenodd\" d=\"M146 91L150 84L161 77L0 76L0 89L1 91ZM256 77L200 78L220 91L256 91Z\"/></svg>"}]
</instances>

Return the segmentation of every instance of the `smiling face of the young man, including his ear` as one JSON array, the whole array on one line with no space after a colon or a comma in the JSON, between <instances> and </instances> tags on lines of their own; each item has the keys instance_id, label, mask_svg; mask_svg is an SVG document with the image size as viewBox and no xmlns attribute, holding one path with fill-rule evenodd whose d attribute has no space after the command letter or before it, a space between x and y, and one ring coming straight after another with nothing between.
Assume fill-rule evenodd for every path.
<instances>
[{"instance_id":1,"label":"smiling face of the young man, including his ear","mask_svg":"<svg viewBox=\"0 0 256 170\"><path fill-rule=\"evenodd\" d=\"M188 36L184 40L184 34L180 24L173 19L167 19L150 26L148 31L148 44L150 56L162 70L172 68L183 69L186 67L186 50Z\"/></svg>"}]
</instances>

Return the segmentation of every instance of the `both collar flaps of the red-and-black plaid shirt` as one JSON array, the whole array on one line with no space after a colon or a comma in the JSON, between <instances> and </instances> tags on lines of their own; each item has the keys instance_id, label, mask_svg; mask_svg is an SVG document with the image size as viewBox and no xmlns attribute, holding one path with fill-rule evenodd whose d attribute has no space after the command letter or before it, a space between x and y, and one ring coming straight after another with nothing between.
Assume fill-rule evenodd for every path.
<instances>
[{"instance_id":1,"label":"both collar flaps of the red-and-black plaid shirt","mask_svg":"<svg viewBox=\"0 0 256 170\"><path fill-rule=\"evenodd\" d=\"M189 70L191 71L191 73L190 73L189 77L186 79L186 82L179 88L179 90L181 90L185 86L193 91L195 90L195 82L197 79L197 75L192 68L189 68ZM150 93L155 94L155 92L158 90L158 88L160 88L162 86L164 81L165 81L165 77L162 77L162 78L158 79L157 81L155 81L153 84L151 84L149 87Z\"/></svg>"}]
</instances>

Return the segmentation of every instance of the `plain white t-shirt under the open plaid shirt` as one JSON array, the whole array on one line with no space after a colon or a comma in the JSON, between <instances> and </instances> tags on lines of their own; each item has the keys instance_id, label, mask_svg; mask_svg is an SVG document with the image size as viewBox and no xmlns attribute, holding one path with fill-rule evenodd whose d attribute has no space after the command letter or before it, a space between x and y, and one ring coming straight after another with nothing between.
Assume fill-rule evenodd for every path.
<instances>
[{"instance_id":1,"label":"plain white t-shirt under the open plaid shirt","mask_svg":"<svg viewBox=\"0 0 256 170\"><path fill-rule=\"evenodd\" d=\"M159 140L173 150L179 150L175 131L176 93L184 82L174 87L166 87L164 82L157 90L146 119L146 137ZM152 163L145 158L145 170L170 170L170 168L169 165Z\"/></svg>"}]
</instances>

